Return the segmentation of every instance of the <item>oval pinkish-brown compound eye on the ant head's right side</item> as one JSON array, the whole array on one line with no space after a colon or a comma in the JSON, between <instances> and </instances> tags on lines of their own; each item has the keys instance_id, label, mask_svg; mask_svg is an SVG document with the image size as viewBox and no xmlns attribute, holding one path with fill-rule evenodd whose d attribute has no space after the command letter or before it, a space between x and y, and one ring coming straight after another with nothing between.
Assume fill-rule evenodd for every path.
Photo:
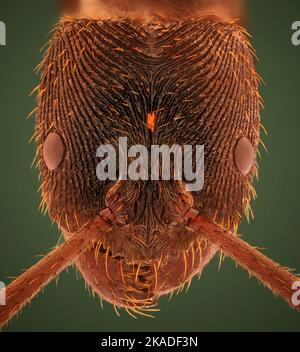
<instances>
[{"instance_id":1,"label":"oval pinkish-brown compound eye on the ant head's right side","mask_svg":"<svg viewBox=\"0 0 300 352\"><path fill-rule=\"evenodd\" d=\"M234 161L238 171L244 176L248 175L255 161L255 151L248 138L242 137L238 140L234 150Z\"/></svg>"}]
</instances>

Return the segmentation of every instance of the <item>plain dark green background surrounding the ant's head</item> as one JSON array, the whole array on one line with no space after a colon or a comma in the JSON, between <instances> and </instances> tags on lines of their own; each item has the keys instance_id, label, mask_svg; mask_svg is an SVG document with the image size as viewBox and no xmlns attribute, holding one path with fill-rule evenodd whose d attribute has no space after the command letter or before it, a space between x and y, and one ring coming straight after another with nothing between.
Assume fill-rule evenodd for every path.
<instances>
[{"instance_id":1,"label":"plain dark green background surrounding the ant's head","mask_svg":"<svg viewBox=\"0 0 300 352\"><path fill-rule=\"evenodd\" d=\"M262 121L268 130L262 152L255 221L240 232L251 244L300 272L300 46L291 44L291 25L300 20L298 0L249 2L249 30L266 81ZM1 236L0 280L9 282L58 241L58 231L38 213L37 171L30 168L34 145L28 145L34 119L29 92L37 85L33 69L40 47L55 24L54 1L1 1L0 20L7 26L7 46L0 47ZM275 298L255 279L226 259L195 280L186 294L163 298L156 319L121 318L93 298L70 269L50 284L13 319L5 331L300 331L300 314Z\"/></svg>"}]
</instances>

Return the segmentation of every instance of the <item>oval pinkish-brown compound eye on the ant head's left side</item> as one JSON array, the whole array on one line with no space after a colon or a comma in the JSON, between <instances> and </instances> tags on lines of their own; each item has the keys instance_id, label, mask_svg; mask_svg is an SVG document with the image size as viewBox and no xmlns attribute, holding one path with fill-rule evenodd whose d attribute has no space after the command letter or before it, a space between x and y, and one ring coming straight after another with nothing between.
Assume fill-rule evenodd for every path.
<instances>
[{"instance_id":1,"label":"oval pinkish-brown compound eye on the ant head's left side","mask_svg":"<svg viewBox=\"0 0 300 352\"><path fill-rule=\"evenodd\" d=\"M56 170L64 158L62 138L55 132L48 134L43 145L43 158L50 171Z\"/></svg>"}]
</instances>

